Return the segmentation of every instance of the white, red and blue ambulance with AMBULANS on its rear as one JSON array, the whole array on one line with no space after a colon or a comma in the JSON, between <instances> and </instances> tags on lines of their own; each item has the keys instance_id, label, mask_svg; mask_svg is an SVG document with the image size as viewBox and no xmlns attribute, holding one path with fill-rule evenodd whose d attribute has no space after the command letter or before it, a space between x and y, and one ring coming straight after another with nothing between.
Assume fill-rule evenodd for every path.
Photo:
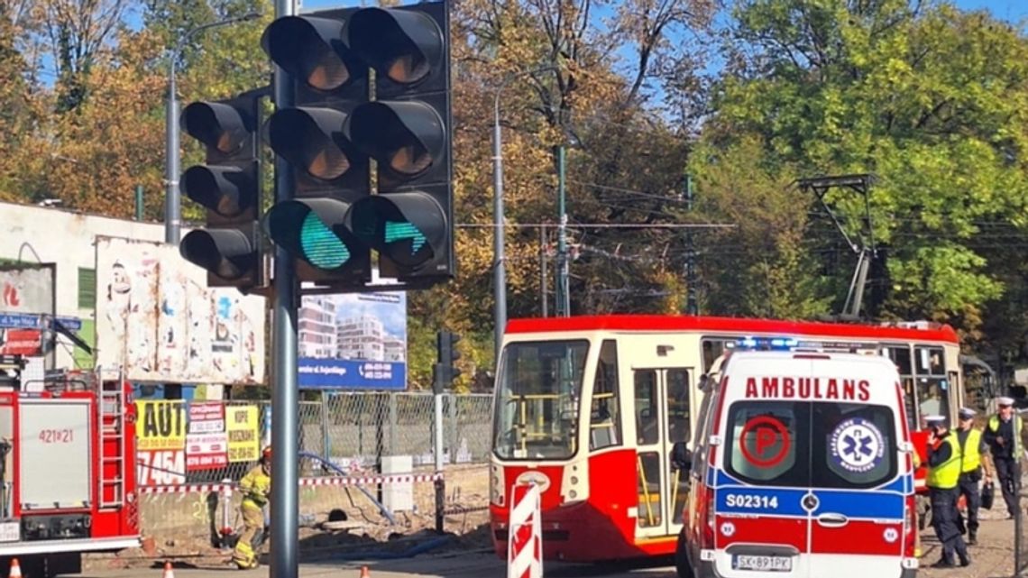
<instances>
[{"instance_id":1,"label":"white, red and blue ambulance with AMBULANS on its rear","mask_svg":"<svg viewBox=\"0 0 1028 578\"><path fill-rule=\"evenodd\" d=\"M681 578L913 578L914 446L895 365L735 352L689 457Z\"/></svg>"}]
</instances>

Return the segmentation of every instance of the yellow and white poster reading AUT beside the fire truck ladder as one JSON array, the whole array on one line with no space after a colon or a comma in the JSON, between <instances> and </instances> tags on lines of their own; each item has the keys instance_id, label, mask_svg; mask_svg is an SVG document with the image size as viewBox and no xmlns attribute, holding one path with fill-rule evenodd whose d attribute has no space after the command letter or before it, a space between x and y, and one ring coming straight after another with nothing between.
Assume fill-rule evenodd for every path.
<instances>
[{"instance_id":1,"label":"yellow and white poster reading AUT beside the fire truck ladder","mask_svg":"<svg viewBox=\"0 0 1028 578\"><path fill-rule=\"evenodd\" d=\"M140 485L186 481L186 404L136 402L136 457Z\"/></svg>"}]
</instances>

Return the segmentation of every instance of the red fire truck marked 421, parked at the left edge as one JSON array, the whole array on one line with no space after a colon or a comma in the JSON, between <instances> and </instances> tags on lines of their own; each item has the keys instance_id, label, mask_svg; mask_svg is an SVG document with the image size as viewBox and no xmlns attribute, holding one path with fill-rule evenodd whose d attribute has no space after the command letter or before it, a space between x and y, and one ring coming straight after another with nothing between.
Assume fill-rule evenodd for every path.
<instances>
[{"instance_id":1,"label":"red fire truck marked 421, parked at the left edge","mask_svg":"<svg viewBox=\"0 0 1028 578\"><path fill-rule=\"evenodd\" d=\"M135 408L120 372L24 378L0 356L0 576L81 572L82 554L140 545Z\"/></svg>"}]
</instances>

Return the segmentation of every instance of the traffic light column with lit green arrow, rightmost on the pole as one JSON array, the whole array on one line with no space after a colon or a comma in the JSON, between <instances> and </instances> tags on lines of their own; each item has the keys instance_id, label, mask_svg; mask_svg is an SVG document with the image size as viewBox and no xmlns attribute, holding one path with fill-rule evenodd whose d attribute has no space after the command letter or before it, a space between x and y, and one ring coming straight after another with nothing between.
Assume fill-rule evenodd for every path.
<instances>
[{"instance_id":1,"label":"traffic light column with lit green arrow, rightmost on the pole","mask_svg":"<svg viewBox=\"0 0 1028 578\"><path fill-rule=\"evenodd\" d=\"M453 277L452 120L446 2L366 8L350 20L356 53L375 71L376 100L354 111L352 141L376 161L378 194L354 207L354 232L383 276Z\"/></svg>"}]
</instances>

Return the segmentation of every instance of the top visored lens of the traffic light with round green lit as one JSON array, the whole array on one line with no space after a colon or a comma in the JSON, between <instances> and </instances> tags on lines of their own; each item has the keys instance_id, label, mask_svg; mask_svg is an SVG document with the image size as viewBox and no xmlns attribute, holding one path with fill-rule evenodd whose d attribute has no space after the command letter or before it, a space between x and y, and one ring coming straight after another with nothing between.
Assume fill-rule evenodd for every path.
<instances>
[{"instance_id":1,"label":"top visored lens of the traffic light with round green lit","mask_svg":"<svg viewBox=\"0 0 1028 578\"><path fill-rule=\"evenodd\" d=\"M286 72L323 92L341 87L353 77L346 64L342 22L330 19L285 16L264 33L264 51Z\"/></svg>"}]
</instances>

